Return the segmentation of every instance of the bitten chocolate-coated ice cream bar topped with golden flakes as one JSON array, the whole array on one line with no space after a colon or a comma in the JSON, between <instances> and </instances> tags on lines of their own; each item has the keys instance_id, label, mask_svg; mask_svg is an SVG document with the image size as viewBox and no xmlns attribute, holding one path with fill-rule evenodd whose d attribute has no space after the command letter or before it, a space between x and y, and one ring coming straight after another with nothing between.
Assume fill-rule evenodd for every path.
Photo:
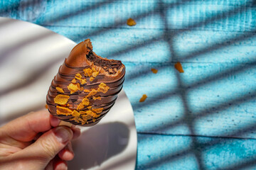
<instances>
[{"instance_id":1,"label":"bitten chocolate-coated ice cream bar topped with golden flakes","mask_svg":"<svg viewBox=\"0 0 256 170\"><path fill-rule=\"evenodd\" d=\"M74 125L95 125L114 105L124 74L121 61L96 55L90 39L80 42L50 84L48 111Z\"/></svg>"}]
</instances>

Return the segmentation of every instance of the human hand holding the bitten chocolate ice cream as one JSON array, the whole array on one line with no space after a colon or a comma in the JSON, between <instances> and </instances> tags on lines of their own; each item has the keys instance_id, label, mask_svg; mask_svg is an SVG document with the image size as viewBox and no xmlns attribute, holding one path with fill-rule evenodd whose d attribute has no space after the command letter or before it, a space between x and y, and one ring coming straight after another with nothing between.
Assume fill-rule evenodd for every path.
<instances>
[{"instance_id":1,"label":"human hand holding the bitten chocolate ice cream","mask_svg":"<svg viewBox=\"0 0 256 170\"><path fill-rule=\"evenodd\" d=\"M80 129L58 126L48 111L28 113L0 128L0 169L68 169L70 140Z\"/></svg>"}]
</instances>

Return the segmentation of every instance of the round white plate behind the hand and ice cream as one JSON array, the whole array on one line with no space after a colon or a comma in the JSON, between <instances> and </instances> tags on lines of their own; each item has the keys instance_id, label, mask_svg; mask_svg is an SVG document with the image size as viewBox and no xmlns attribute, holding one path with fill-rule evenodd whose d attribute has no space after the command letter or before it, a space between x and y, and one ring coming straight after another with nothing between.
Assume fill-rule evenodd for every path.
<instances>
[{"instance_id":1,"label":"round white plate behind the hand and ice cream","mask_svg":"<svg viewBox=\"0 0 256 170\"><path fill-rule=\"evenodd\" d=\"M50 81L74 46L41 26L0 17L0 125L44 108ZM124 91L100 123L82 128L73 147L70 169L134 169L137 132Z\"/></svg>"}]
</instances>

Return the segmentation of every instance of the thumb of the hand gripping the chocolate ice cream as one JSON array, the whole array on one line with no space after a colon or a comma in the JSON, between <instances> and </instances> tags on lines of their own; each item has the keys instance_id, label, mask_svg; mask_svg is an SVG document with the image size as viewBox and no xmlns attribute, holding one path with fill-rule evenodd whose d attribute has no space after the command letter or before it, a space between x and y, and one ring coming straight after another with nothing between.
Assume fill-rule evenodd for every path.
<instances>
[{"instance_id":1,"label":"thumb of the hand gripping the chocolate ice cream","mask_svg":"<svg viewBox=\"0 0 256 170\"><path fill-rule=\"evenodd\" d=\"M46 166L70 142L72 137L73 131L70 128L59 126L41 135L36 142L19 154L29 155L34 164Z\"/></svg>"}]
</instances>

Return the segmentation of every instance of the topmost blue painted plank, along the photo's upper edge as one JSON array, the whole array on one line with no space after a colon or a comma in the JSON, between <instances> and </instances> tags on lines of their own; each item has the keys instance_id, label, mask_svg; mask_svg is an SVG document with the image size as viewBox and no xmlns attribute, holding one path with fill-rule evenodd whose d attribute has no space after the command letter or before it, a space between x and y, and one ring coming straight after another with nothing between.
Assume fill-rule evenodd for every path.
<instances>
[{"instance_id":1,"label":"topmost blue painted plank, along the photo's upper edge","mask_svg":"<svg viewBox=\"0 0 256 170\"><path fill-rule=\"evenodd\" d=\"M65 3L65 6L63 4ZM193 30L255 30L256 11L252 0L235 1L16 1L3 8L1 16L44 26L128 28L126 20L136 19L136 28Z\"/></svg>"}]
</instances>

